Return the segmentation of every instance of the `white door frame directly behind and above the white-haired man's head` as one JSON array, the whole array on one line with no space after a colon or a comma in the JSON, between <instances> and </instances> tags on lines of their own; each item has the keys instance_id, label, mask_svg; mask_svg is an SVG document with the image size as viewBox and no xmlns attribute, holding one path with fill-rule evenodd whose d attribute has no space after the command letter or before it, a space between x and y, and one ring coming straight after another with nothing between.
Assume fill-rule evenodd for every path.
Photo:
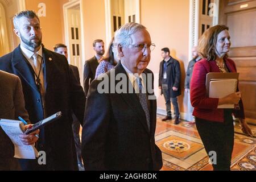
<instances>
[{"instance_id":1,"label":"white door frame directly behind and above the white-haired man's head","mask_svg":"<svg viewBox=\"0 0 256 182\"><path fill-rule=\"evenodd\" d=\"M106 45L110 43L112 39L112 24L111 24L111 0L105 0L105 22L106 22ZM141 0L135 0L136 19L137 23L141 23Z\"/></svg>"}]
</instances>

